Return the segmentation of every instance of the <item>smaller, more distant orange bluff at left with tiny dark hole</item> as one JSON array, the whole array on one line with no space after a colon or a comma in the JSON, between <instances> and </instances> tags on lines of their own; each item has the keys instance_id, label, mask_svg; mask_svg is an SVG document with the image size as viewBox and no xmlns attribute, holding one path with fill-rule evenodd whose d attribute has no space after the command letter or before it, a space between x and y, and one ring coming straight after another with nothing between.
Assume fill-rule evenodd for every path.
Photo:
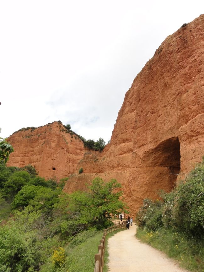
<instances>
[{"instance_id":1,"label":"smaller, more distant orange bluff at left with tiny dark hole","mask_svg":"<svg viewBox=\"0 0 204 272\"><path fill-rule=\"evenodd\" d=\"M60 122L12 134L14 152L7 166L35 166L39 176L57 180L74 172L85 152L83 142Z\"/></svg>"}]
</instances>

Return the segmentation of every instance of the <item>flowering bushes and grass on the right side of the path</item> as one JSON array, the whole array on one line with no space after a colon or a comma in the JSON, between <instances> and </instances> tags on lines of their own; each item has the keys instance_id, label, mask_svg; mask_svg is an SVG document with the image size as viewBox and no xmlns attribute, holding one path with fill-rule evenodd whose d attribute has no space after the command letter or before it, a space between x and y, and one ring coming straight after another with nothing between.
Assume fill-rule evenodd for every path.
<instances>
[{"instance_id":1,"label":"flowering bushes and grass on the right side of the path","mask_svg":"<svg viewBox=\"0 0 204 272\"><path fill-rule=\"evenodd\" d=\"M204 271L204 161L171 193L144 199L136 215L137 237L177 259L192 271Z\"/></svg>"}]
</instances>

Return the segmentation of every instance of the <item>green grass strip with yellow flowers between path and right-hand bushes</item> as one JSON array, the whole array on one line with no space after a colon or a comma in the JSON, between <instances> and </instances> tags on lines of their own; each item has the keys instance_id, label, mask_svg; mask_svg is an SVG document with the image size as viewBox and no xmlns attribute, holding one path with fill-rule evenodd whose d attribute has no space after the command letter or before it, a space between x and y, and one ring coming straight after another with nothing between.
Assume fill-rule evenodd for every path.
<instances>
[{"instance_id":1,"label":"green grass strip with yellow flowers between path and right-hand bushes","mask_svg":"<svg viewBox=\"0 0 204 272\"><path fill-rule=\"evenodd\" d=\"M161 228L155 232L137 230L136 237L153 248L163 251L191 271L204 272L204 241L187 238L172 229Z\"/></svg>"}]
</instances>

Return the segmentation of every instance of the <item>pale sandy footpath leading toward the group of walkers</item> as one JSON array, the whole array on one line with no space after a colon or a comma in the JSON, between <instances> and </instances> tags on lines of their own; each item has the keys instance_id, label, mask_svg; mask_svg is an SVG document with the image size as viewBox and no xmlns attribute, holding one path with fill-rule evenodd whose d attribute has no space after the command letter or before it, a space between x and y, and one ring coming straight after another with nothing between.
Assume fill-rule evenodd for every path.
<instances>
[{"instance_id":1,"label":"pale sandy footpath leading toward the group of walkers","mask_svg":"<svg viewBox=\"0 0 204 272\"><path fill-rule=\"evenodd\" d=\"M110 272L189 272L164 253L141 243L135 233L134 225L108 239Z\"/></svg>"}]
</instances>

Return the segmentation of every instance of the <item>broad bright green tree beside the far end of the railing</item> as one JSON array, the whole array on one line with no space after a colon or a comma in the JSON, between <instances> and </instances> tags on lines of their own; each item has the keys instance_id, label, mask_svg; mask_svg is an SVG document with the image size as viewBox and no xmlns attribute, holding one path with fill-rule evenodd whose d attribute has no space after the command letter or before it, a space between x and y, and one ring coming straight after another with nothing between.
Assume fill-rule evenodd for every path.
<instances>
[{"instance_id":1,"label":"broad bright green tree beside the far end of the railing","mask_svg":"<svg viewBox=\"0 0 204 272\"><path fill-rule=\"evenodd\" d=\"M61 223L62 232L77 233L85 228L104 229L112 224L111 215L126 208L121 200L121 184L115 179L104 182L96 177L87 186L88 192L76 191L60 198L60 207L64 218Z\"/></svg>"}]
</instances>

